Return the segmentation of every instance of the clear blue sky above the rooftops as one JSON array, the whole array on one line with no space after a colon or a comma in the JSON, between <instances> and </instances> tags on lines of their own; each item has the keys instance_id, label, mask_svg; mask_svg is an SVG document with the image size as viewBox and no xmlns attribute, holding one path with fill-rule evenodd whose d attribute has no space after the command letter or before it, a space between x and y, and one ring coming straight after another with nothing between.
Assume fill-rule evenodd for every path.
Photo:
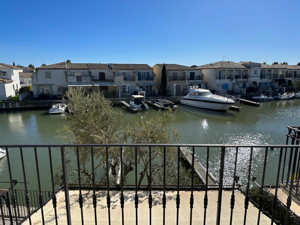
<instances>
[{"instance_id":1,"label":"clear blue sky above the rooftops","mask_svg":"<svg viewBox=\"0 0 300 225\"><path fill-rule=\"evenodd\" d=\"M298 1L4 1L0 62L300 61Z\"/></svg>"}]
</instances>

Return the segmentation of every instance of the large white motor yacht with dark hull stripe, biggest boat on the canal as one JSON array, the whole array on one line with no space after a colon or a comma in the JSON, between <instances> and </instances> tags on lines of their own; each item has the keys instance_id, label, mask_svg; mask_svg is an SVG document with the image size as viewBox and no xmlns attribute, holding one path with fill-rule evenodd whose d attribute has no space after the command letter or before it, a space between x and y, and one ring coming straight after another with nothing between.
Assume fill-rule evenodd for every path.
<instances>
[{"instance_id":1,"label":"large white motor yacht with dark hull stripe, biggest boat on the canal","mask_svg":"<svg viewBox=\"0 0 300 225\"><path fill-rule=\"evenodd\" d=\"M226 111L236 101L231 98L226 98L220 95L214 95L209 90L190 87L188 93L180 104L202 110Z\"/></svg>"}]
</instances>

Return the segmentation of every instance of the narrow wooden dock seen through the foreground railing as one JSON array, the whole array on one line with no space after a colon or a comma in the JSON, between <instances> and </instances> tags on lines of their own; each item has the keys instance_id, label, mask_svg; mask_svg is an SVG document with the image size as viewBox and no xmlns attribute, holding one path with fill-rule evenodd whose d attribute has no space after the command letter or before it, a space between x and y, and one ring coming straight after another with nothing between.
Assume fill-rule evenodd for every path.
<instances>
[{"instance_id":1,"label":"narrow wooden dock seen through the foreground railing","mask_svg":"<svg viewBox=\"0 0 300 225\"><path fill-rule=\"evenodd\" d=\"M187 147L180 147L181 153L186 156L185 160L192 166L192 152ZM197 157L194 158L194 171L196 175L199 177L202 184L206 184L206 170L199 162ZM208 173L207 185L216 185L218 183L217 179L211 174ZM217 187L217 186L212 186Z\"/></svg>"}]
</instances>

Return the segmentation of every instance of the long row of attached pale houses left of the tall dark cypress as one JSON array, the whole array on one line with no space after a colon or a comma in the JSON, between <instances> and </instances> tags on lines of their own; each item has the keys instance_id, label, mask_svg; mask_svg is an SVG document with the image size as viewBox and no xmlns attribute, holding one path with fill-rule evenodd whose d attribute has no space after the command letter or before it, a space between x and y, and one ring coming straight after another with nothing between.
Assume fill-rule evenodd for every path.
<instances>
[{"instance_id":1,"label":"long row of attached pale houses left of the tall dark cypress","mask_svg":"<svg viewBox=\"0 0 300 225\"><path fill-rule=\"evenodd\" d=\"M103 91L106 97L119 97L132 95L143 87L144 80L148 87L157 85L153 77L153 68L147 64L61 62L36 68L32 75L32 88L34 96L58 97L69 87L80 87L86 93L95 90Z\"/></svg>"}]
</instances>

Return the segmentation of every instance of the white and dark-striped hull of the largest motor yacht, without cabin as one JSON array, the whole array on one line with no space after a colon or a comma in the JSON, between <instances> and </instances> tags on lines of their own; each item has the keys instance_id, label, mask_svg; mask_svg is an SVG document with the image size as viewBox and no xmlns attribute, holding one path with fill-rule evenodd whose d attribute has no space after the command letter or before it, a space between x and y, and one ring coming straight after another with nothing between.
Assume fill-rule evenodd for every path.
<instances>
[{"instance_id":1,"label":"white and dark-striped hull of the largest motor yacht, without cabin","mask_svg":"<svg viewBox=\"0 0 300 225\"><path fill-rule=\"evenodd\" d=\"M221 102L204 102L194 99L182 99L180 104L187 107L192 107L200 110L211 110L224 112L228 110L234 103L221 103Z\"/></svg>"}]
</instances>

